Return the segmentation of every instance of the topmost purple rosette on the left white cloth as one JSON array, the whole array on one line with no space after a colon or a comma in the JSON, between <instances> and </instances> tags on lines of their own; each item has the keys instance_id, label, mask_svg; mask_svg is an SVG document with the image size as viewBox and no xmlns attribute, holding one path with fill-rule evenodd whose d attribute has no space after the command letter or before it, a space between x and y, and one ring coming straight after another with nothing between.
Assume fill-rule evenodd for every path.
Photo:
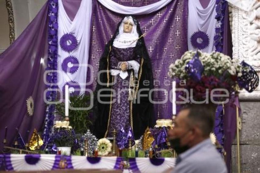
<instances>
[{"instance_id":1,"label":"topmost purple rosette on the left white cloth","mask_svg":"<svg viewBox=\"0 0 260 173\"><path fill-rule=\"evenodd\" d=\"M78 41L72 34L64 34L60 39L61 49L66 52L72 52L78 47Z\"/></svg>"}]
</instances>

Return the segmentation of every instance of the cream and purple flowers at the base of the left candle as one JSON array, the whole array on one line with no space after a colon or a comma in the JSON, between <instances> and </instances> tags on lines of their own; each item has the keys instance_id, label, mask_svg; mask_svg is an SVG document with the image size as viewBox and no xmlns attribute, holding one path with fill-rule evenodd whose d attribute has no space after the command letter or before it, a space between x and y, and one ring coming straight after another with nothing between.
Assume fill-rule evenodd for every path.
<instances>
[{"instance_id":1,"label":"cream and purple flowers at the base of the left candle","mask_svg":"<svg viewBox=\"0 0 260 173\"><path fill-rule=\"evenodd\" d=\"M50 142L57 147L72 147L76 144L76 134L69 126L69 121L56 121Z\"/></svg>"}]
</instances>

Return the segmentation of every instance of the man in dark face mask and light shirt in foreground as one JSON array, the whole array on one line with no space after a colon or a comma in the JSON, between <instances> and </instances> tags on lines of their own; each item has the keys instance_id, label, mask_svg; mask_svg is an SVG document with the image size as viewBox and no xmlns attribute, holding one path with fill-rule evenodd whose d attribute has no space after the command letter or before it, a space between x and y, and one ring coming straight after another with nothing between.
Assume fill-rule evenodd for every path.
<instances>
[{"instance_id":1,"label":"man in dark face mask and light shirt in foreground","mask_svg":"<svg viewBox=\"0 0 260 173\"><path fill-rule=\"evenodd\" d=\"M226 173L221 154L210 141L214 112L205 105L182 109L168 137L178 154L173 173Z\"/></svg>"}]
</instances>

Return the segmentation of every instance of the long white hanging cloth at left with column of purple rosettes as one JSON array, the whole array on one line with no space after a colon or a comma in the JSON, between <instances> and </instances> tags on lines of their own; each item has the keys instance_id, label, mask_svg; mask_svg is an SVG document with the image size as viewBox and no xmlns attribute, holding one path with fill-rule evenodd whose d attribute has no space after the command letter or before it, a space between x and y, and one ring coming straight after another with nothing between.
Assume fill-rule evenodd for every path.
<instances>
[{"instance_id":1,"label":"long white hanging cloth at left with column of purple rosettes","mask_svg":"<svg viewBox=\"0 0 260 173\"><path fill-rule=\"evenodd\" d=\"M71 21L64 9L62 1L59 0L58 10L58 40L64 34L70 33L74 35L78 41L78 46L72 52L66 52L58 45L58 83L62 90L64 84L69 81L76 81L80 84L81 93L84 93L86 77L87 77L87 62L90 44L90 20L92 13L92 1L81 1L80 7L73 21ZM74 56L79 61L78 70L71 74L62 70L61 64L68 56ZM75 64L74 64L75 65ZM72 64L68 63L71 67ZM70 88L73 91L73 89Z\"/></svg>"}]
</instances>

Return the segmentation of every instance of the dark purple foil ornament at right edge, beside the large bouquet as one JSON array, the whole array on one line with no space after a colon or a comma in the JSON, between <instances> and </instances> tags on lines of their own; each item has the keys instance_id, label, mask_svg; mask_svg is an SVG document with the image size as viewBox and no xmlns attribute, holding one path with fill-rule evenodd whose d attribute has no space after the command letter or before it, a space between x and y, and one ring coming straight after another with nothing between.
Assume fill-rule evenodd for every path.
<instances>
[{"instance_id":1,"label":"dark purple foil ornament at right edge, beside the large bouquet","mask_svg":"<svg viewBox=\"0 0 260 173\"><path fill-rule=\"evenodd\" d=\"M237 78L238 85L251 93L258 87L259 77L251 65L245 61L242 61L241 65L243 66L242 76ZM249 71L247 72L244 68L248 68Z\"/></svg>"}]
</instances>

